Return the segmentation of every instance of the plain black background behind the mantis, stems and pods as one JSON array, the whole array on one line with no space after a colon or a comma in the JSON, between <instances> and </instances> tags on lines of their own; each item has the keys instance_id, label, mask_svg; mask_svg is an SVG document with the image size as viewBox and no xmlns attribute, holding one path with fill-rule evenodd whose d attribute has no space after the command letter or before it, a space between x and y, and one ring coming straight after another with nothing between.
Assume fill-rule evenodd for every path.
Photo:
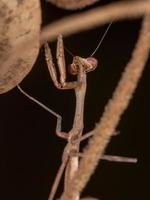
<instances>
[{"instance_id":1,"label":"plain black background behind the mantis, stems and pods","mask_svg":"<svg viewBox=\"0 0 150 200\"><path fill-rule=\"evenodd\" d=\"M91 7L108 2L102 0ZM42 26L75 13L44 1L42 9ZM140 25L141 19L113 23L96 52L99 65L88 74L84 132L93 129L111 98L121 72L130 59ZM64 38L65 46L74 55L88 57L106 28L107 25ZM55 57L56 41L51 43L51 49ZM68 66L72 57L67 52L65 54ZM82 196L91 195L102 200L149 199L146 183L150 163L149 74L150 65L147 63L134 98L118 126L120 134L113 137L106 150L107 154L137 157L138 163L101 161ZM69 74L68 80L72 80ZM20 85L63 117L64 131L71 129L74 91L60 91L54 87L44 60L43 48L32 71ZM56 118L23 96L17 88L0 96L0 111L0 199L47 200L66 144L55 135ZM144 172L147 176L144 176ZM57 197L61 191L62 186L59 187Z\"/></svg>"}]
</instances>

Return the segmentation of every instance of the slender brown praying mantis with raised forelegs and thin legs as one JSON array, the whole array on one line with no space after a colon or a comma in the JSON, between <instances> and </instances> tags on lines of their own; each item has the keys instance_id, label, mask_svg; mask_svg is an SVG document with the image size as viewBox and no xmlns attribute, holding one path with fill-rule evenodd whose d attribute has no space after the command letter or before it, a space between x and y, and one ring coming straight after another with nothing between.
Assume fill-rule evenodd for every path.
<instances>
[{"instance_id":1,"label":"slender brown praying mantis with raised forelegs and thin legs","mask_svg":"<svg viewBox=\"0 0 150 200\"><path fill-rule=\"evenodd\" d=\"M103 35L103 38L105 34ZM56 134L59 137L67 140L67 144L66 144L66 147L64 148L64 152L62 155L62 164L60 165L60 168L57 172L56 178L54 180L54 183L53 183L53 186L48 198L48 200L53 200L64 170L65 170L64 191L65 190L67 191L68 185L70 184L72 178L74 177L75 173L78 170L79 157L81 155L79 152L80 142L92 136L93 134L93 132L91 131L85 134L84 136L82 136L82 132L84 128L84 123L83 123L84 101L85 101L86 86L87 86L87 82L86 82L87 73L96 69L98 65L98 61L92 56L88 58L81 58L79 56L73 57L73 62L70 65L69 71L71 75L77 76L77 80L73 82L66 82L64 45L63 45L62 35L59 35L58 40L57 40L57 53L56 53L57 64L58 64L58 69L60 73L60 80L58 81L56 68L53 63L52 54L48 46L48 43L44 45L44 48L45 48L45 57L46 57L48 70L55 87L61 90L74 89L75 91L76 108L75 108L75 116L74 116L72 129L68 133L63 132L61 129L62 118L60 115L55 113L53 110L47 108L45 105L37 101L35 98L28 95L26 92L24 92L21 89L19 85L17 87L24 95L26 95L32 101L39 104L41 107L43 107L44 109L46 109L47 111L49 111L50 113L52 113L53 115L57 117ZM125 157L120 157L120 156L104 155L103 159L110 160L110 161L118 161L118 162L119 161L136 162L136 159L134 158L127 158L127 157L125 158ZM80 194L76 194L76 197L74 200L79 200L79 198L80 198Z\"/></svg>"}]
</instances>

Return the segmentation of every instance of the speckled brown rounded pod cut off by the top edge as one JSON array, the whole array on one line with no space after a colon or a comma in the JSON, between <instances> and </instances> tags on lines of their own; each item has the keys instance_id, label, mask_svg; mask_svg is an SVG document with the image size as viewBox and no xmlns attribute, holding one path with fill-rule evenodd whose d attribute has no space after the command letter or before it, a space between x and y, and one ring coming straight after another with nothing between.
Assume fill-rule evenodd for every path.
<instances>
[{"instance_id":1,"label":"speckled brown rounded pod cut off by the top edge","mask_svg":"<svg viewBox=\"0 0 150 200\"><path fill-rule=\"evenodd\" d=\"M69 10L81 9L86 6L92 5L99 0L47 0L54 5Z\"/></svg>"}]
</instances>

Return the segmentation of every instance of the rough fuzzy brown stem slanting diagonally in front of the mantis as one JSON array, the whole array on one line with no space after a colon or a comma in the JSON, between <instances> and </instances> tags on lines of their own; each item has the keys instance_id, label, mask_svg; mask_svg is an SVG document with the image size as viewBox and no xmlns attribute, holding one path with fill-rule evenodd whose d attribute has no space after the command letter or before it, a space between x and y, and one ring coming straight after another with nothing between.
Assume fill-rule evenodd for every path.
<instances>
[{"instance_id":1,"label":"rough fuzzy brown stem slanting diagonally in front of the mantis","mask_svg":"<svg viewBox=\"0 0 150 200\"><path fill-rule=\"evenodd\" d=\"M127 108L137 83L144 70L148 59L150 48L150 15L145 16L140 36L135 46L130 62L127 64L122 78L108 102L104 114L99 124L95 128L95 134L89 141L88 147L84 151L79 170L68 188L68 193L64 193L61 200L71 200L74 194L81 192L90 176L94 172L98 161L101 159L104 150L113 135L121 115Z\"/></svg>"}]
</instances>

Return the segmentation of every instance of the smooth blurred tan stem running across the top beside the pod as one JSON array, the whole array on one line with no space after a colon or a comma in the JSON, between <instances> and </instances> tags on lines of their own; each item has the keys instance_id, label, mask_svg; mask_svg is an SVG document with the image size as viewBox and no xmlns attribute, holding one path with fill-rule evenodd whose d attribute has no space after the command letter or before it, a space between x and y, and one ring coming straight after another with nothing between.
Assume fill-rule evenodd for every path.
<instances>
[{"instance_id":1,"label":"smooth blurred tan stem running across the top beside the pod","mask_svg":"<svg viewBox=\"0 0 150 200\"><path fill-rule=\"evenodd\" d=\"M47 25L41 32L41 43L54 40L60 33L67 36L108 23L112 19L137 18L146 13L150 13L149 0L112 3Z\"/></svg>"}]
</instances>

